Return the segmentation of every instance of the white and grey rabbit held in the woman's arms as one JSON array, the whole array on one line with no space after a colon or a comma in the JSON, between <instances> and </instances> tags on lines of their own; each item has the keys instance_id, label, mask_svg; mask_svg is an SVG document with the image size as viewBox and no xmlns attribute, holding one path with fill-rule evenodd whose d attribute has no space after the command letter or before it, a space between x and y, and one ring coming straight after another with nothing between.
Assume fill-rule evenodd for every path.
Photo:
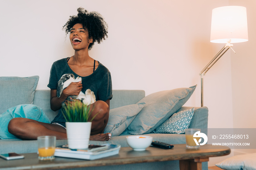
<instances>
[{"instance_id":1,"label":"white and grey rabbit held in the woman's arms","mask_svg":"<svg viewBox=\"0 0 256 170\"><path fill-rule=\"evenodd\" d=\"M58 98L60 97L63 90L65 88L67 88L70 83L80 82L80 81L82 82L82 78L77 77L75 79L75 76L73 74L64 74L63 76L61 76L60 80L58 81L58 88L57 88ZM83 102L86 105L89 105L89 104L92 104L92 103L96 102L94 92L91 91L90 89L87 89L85 91L85 94L82 91L80 91L78 96L75 96L75 95L68 96L68 100L73 101L71 98L79 99L79 100L81 100L81 102Z\"/></svg>"}]
</instances>

